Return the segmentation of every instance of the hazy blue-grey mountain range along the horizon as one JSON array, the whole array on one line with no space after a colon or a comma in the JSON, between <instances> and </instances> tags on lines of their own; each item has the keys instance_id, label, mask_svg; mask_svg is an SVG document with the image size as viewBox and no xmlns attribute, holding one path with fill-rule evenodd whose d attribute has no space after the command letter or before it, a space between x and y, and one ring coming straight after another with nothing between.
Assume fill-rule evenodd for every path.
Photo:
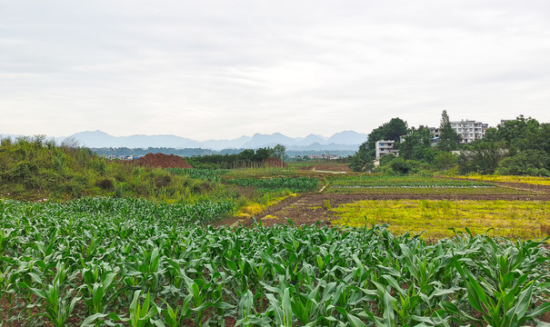
<instances>
[{"instance_id":1,"label":"hazy blue-grey mountain range along the horizon","mask_svg":"<svg viewBox=\"0 0 550 327\"><path fill-rule=\"evenodd\" d=\"M15 135L5 135L15 136ZM309 134L306 137L288 137L284 134L254 134L254 136L241 136L235 140L209 140L198 142L185 137L175 135L131 135L113 136L101 131L81 132L71 135L75 141L89 148L127 147L127 148L203 148L215 151L224 149L257 149L261 147L274 147L283 144L287 150L296 151L356 151L358 146L367 139L367 134L354 131L336 133L331 137ZM55 138L57 142L62 138Z\"/></svg>"}]
</instances>

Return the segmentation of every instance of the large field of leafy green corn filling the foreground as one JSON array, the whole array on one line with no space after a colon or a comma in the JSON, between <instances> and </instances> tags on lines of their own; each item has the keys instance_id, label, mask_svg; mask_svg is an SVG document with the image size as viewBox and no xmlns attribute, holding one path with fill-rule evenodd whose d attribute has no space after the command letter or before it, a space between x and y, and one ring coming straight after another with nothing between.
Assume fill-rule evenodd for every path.
<instances>
[{"instance_id":1,"label":"large field of leafy green corn filling the foreground","mask_svg":"<svg viewBox=\"0 0 550 327\"><path fill-rule=\"evenodd\" d=\"M196 223L230 210L0 201L0 325L511 327L550 309L547 240Z\"/></svg>"}]
</instances>

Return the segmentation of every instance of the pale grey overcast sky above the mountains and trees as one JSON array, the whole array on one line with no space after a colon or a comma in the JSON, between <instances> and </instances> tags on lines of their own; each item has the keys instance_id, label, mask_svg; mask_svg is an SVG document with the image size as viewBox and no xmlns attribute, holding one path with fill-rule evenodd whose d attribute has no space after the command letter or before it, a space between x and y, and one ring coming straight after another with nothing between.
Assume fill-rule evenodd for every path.
<instances>
[{"instance_id":1,"label":"pale grey overcast sky above the mountains and trees","mask_svg":"<svg viewBox=\"0 0 550 327\"><path fill-rule=\"evenodd\" d=\"M0 134L550 122L548 0L0 0Z\"/></svg>"}]
</instances>

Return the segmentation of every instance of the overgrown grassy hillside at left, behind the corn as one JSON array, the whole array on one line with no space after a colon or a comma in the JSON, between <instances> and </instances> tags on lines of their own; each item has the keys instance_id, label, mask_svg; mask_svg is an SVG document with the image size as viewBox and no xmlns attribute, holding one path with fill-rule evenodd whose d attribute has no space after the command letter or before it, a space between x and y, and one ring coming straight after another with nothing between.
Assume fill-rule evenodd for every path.
<instances>
[{"instance_id":1,"label":"overgrown grassy hillside at left, behind the corn","mask_svg":"<svg viewBox=\"0 0 550 327\"><path fill-rule=\"evenodd\" d=\"M150 164L144 161L144 165ZM111 162L86 148L58 146L42 137L15 142L5 138L0 144L0 198L36 201L115 196L194 202L205 196L202 191L221 188L163 169Z\"/></svg>"}]
</instances>

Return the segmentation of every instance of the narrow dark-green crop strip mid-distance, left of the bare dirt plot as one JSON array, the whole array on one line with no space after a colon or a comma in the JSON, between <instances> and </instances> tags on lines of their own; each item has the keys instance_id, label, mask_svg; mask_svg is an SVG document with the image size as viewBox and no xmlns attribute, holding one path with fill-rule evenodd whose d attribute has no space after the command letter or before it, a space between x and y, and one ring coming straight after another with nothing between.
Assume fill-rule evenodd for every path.
<instances>
[{"instance_id":1,"label":"narrow dark-green crop strip mid-distance, left of the bare dirt plot","mask_svg":"<svg viewBox=\"0 0 550 327\"><path fill-rule=\"evenodd\" d=\"M288 189L292 192L314 191L319 183L317 179L310 177L235 178L228 182L266 190Z\"/></svg>"}]
</instances>

